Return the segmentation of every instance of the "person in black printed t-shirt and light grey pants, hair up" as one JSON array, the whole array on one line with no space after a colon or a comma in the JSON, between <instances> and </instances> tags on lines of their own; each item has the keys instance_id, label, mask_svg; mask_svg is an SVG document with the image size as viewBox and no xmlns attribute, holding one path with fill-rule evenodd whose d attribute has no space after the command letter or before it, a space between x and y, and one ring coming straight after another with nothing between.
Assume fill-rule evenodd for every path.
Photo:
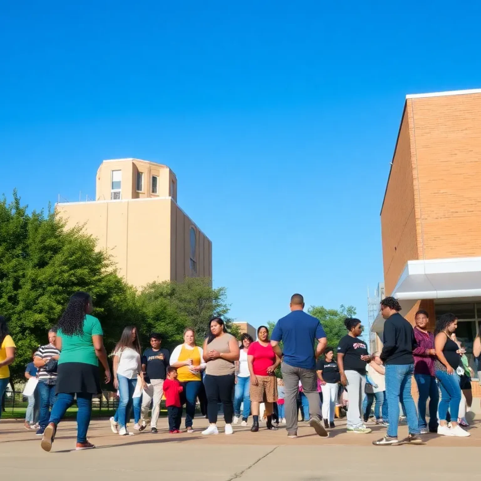
<instances>
[{"instance_id":1,"label":"person in black printed t-shirt and light grey pants, hair up","mask_svg":"<svg viewBox=\"0 0 481 481\"><path fill-rule=\"evenodd\" d=\"M341 338L337 346L337 364L341 383L347 389L349 409L347 410L347 432L368 434L371 432L361 418L362 403L366 395L366 365L371 362L367 344L362 335L361 321L347 317L344 326L348 334Z\"/></svg>"}]
</instances>

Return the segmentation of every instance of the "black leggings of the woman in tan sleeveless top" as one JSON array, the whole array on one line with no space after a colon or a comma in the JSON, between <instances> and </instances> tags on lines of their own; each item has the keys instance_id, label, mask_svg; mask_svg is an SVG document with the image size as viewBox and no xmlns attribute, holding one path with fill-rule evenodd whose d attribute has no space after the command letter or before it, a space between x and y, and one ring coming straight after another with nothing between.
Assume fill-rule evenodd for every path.
<instances>
[{"instance_id":1,"label":"black leggings of the woman in tan sleeveless top","mask_svg":"<svg viewBox=\"0 0 481 481\"><path fill-rule=\"evenodd\" d=\"M224 407L224 420L226 424L232 422L232 416L234 414L232 390L234 389L235 379L234 374L228 374L226 376L205 375L204 386L205 393L207 394L207 416L210 423L217 422L219 401Z\"/></svg>"}]
</instances>

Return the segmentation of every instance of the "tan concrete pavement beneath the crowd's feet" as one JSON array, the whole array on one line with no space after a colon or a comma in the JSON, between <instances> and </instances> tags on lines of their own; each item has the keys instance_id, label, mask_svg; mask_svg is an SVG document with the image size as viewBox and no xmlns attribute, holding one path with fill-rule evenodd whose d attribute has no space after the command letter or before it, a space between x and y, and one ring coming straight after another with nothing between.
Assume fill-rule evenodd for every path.
<instances>
[{"instance_id":1,"label":"tan concrete pavement beneath the crowd's feet","mask_svg":"<svg viewBox=\"0 0 481 481\"><path fill-rule=\"evenodd\" d=\"M97 445L90 451L75 451L76 424L59 425L52 451L40 449L34 431L21 421L0 421L0 463L2 479L33 479L38 468L48 469L57 480L132 480L146 475L189 481L232 480L452 480L460 474L479 476L476 460L481 447L481 430L475 423L469 438L425 436L423 446L377 447L372 440L382 436L378 429L367 435L347 434L338 422L327 439L319 438L305 425L291 440L286 431L234 427L234 434L204 437L205 419L195 420L194 434L171 435L166 419L159 420L159 434L143 432L129 437L112 433L108 420L94 420L89 440ZM219 426L222 423L219 422ZM405 426L400 436L406 435ZM44 471L45 475L45 471Z\"/></svg>"}]
</instances>

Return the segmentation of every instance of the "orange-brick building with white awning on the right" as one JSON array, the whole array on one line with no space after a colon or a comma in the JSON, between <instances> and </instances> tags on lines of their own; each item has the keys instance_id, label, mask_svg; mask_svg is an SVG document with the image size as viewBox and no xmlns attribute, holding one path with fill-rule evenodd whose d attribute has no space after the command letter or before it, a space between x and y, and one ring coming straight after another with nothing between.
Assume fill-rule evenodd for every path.
<instances>
[{"instance_id":1,"label":"orange-brick building with white awning on the right","mask_svg":"<svg viewBox=\"0 0 481 481\"><path fill-rule=\"evenodd\" d=\"M481 89L407 95L381 208L386 295L458 316L467 348L481 322ZM372 330L382 339L384 321ZM481 367L480 367L481 369ZM478 383L473 390L480 395Z\"/></svg>"}]
</instances>

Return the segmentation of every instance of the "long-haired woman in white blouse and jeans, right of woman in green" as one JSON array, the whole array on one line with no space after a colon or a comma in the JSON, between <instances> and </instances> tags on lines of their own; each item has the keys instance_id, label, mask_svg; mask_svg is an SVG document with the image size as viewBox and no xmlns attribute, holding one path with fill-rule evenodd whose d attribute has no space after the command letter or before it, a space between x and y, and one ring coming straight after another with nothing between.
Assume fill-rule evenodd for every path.
<instances>
[{"instance_id":1,"label":"long-haired woman in white blouse and jeans, right of woman in green","mask_svg":"<svg viewBox=\"0 0 481 481\"><path fill-rule=\"evenodd\" d=\"M117 412L110 418L112 430L121 436L128 436L127 422L130 410L134 406L134 429L139 430L141 396L133 398L137 386L137 377L143 378L140 361L140 342L135 326L127 326L122 332L120 341L115 346L114 356L114 388L120 394Z\"/></svg>"}]
</instances>

